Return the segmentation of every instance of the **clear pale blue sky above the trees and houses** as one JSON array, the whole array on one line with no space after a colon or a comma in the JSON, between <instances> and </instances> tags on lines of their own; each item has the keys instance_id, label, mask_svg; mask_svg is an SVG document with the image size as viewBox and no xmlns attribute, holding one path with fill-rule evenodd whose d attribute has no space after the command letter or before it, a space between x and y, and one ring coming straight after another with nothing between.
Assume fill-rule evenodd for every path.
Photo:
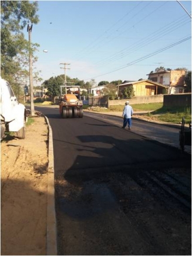
<instances>
[{"instance_id":1,"label":"clear pale blue sky above the trees and houses","mask_svg":"<svg viewBox=\"0 0 192 256\"><path fill-rule=\"evenodd\" d=\"M191 1L179 2L191 15ZM191 70L191 18L179 2L38 1L35 67L44 81L66 62L70 78L97 84L147 79L160 66Z\"/></svg>"}]
</instances>

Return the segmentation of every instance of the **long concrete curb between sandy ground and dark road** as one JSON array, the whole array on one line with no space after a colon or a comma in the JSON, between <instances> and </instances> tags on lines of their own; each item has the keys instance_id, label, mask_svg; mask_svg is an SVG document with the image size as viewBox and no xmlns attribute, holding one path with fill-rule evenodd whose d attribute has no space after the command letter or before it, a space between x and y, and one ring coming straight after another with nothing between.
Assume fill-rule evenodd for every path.
<instances>
[{"instance_id":1,"label":"long concrete curb between sandy ground and dark road","mask_svg":"<svg viewBox=\"0 0 192 256\"><path fill-rule=\"evenodd\" d=\"M49 120L47 117L45 118L49 128L46 255L58 255L56 213L55 213L55 171L54 171L54 157L53 157L53 137L52 137L52 128L50 127Z\"/></svg>"}]
</instances>

